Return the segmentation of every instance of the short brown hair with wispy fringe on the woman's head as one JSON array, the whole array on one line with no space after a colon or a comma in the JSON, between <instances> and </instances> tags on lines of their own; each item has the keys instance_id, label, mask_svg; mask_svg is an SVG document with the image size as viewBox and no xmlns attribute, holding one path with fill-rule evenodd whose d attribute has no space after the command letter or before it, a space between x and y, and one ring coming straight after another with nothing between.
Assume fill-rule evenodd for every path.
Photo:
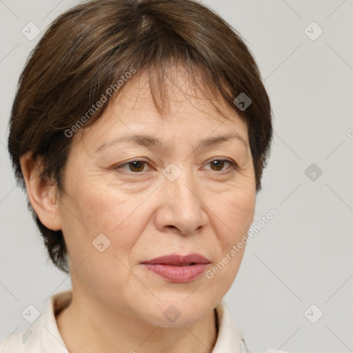
<instances>
[{"instance_id":1,"label":"short brown hair with wispy fringe on the woman's head","mask_svg":"<svg viewBox=\"0 0 353 353\"><path fill-rule=\"evenodd\" d=\"M8 150L17 182L25 188L19 158L31 151L33 159L43 159L41 177L62 190L72 141L65 131L131 68L149 72L152 97L163 112L165 76L173 63L182 63L195 85L195 72L201 72L198 87L207 97L225 102L246 121L259 191L272 140L268 94L239 33L194 0L94 0L54 20L28 58L12 105ZM108 101L117 94L114 90ZM239 94L251 99L245 110L234 104ZM97 108L83 128L97 122L107 106ZM50 259L69 272L62 232L46 228L30 202L28 207Z\"/></svg>"}]
</instances>

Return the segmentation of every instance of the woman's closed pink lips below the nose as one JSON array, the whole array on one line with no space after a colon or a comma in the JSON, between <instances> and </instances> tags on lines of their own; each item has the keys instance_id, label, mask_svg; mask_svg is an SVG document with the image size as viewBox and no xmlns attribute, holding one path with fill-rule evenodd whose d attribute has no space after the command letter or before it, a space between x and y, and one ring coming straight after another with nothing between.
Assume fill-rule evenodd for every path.
<instances>
[{"instance_id":1,"label":"woman's closed pink lips below the nose","mask_svg":"<svg viewBox=\"0 0 353 353\"><path fill-rule=\"evenodd\" d=\"M188 283L205 272L210 261L199 254L181 256L171 254L157 257L141 264L148 270L175 283Z\"/></svg>"}]
</instances>

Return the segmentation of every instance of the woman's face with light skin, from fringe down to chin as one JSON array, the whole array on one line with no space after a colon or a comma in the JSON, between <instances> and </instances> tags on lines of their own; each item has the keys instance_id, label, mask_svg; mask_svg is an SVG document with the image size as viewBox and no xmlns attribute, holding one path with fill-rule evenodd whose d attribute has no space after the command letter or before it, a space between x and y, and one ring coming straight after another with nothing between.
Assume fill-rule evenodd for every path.
<instances>
[{"instance_id":1,"label":"woman's face with light skin, from fringe down to chin","mask_svg":"<svg viewBox=\"0 0 353 353\"><path fill-rule=\"evenodd\" d=\"M256 199L246 123L225 107L230 119L219 116L181 71L169 88L164 121L147 77L132 77L74 134L59 202L75 295L163 326L191 325L221 301Z\"/></svg>"}]
</instances>

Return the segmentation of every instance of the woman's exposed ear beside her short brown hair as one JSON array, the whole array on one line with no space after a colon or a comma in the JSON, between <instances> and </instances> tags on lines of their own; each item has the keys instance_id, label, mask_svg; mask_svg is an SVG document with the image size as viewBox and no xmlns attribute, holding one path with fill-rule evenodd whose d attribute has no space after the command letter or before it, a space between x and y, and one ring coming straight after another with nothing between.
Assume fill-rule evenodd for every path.
<instances>
[{"instance_id":1,"label":"woman's exposed ear beside her short brown hair","mask_svg":"<svg viewBox=\"0 0 353 353\"><path fill-rule=\"evenodd\" d=\"M19 160L32 208L46 228L61 230L57 186L40 176L41 158L34 161L32 152L26 152Z\"/></svg>"}]
</instances>

